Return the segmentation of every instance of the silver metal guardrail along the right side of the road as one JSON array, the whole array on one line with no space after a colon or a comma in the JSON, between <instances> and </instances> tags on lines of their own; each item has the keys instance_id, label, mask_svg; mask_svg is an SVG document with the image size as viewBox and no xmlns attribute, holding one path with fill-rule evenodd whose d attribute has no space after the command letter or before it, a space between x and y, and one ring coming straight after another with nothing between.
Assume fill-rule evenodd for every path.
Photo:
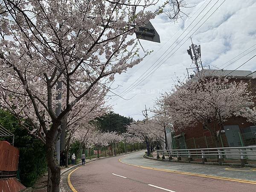
<instances>
[{"instance_id":1,"label":"silver metal guardrail along the right side of the road","mask_svg":"<svg viewBox=\"0 0 256 192\"><path fill-rule=\"evenodd\" d=\"M156 150L157 158L164 159L164 156L177 157L177 160L181 160L182 157L188 157L189 161L193 161L193 157L200 156L202 162L207 162L207 156L217 156L219 163L223 162L225 156L231 156L238 159L239 156L241 164L245 164L247 156L256 155L256 146L251 147L223 147L223 148L192 148L192 149L170 149L170 150ZM233 159L233 158L232 158Z\"/></svg>"}]
</instances>

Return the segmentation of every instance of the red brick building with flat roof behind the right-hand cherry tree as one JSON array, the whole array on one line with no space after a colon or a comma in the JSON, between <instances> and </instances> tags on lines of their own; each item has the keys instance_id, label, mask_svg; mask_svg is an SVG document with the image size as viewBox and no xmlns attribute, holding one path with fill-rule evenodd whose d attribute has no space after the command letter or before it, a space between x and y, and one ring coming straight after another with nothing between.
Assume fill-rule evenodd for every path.
<instances>
[{"instance_id":1,"label":"red brick building with flat roof behind the right-hand cherry tree","mask_svg":"<svg viewBox=\"0 0 256 192\"><path fill-rule=\"evenodd\" d=\"M205 77L228 76L231 81L250 81L250 89L256 95L256 74L251 71L232 70L201 70ZM255 101L256 102L256 101ZM243 117L233 116L224 123L221 130L221 142L219 147L237 147L256 145L256 126ZM172 148L214 148L210 132L203 125L186 128L182 132L175 131L172 136Z\"/></svg>"}]
</instances>

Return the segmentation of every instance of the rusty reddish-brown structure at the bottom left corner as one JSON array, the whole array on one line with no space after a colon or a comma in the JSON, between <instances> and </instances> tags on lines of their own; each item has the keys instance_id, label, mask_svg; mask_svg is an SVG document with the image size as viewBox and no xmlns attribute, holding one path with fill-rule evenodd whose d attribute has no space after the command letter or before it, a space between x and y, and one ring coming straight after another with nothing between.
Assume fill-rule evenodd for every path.
<instances>
[{"instance_id":1,"label":"rusty reddish-brown structure at the bottom left corner","mask_svg":"<svg viewBox=\"0 0 256 192\"><path fill-rule=\"evenodd\" d=\"M0 192L25 189L17 179L19 150L7 141L0 141Z\"/></svg>"}]
</instances>

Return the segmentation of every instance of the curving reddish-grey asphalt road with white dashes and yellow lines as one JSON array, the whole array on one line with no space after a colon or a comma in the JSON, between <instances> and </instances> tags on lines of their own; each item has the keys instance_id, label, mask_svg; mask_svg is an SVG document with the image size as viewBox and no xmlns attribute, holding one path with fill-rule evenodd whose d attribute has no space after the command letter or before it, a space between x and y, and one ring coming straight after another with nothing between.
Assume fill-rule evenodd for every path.
<instances>
[{"instance_id":1,"label":"curving reddish-grey asphalt road with white dashes and yellow lines","mask_svg":"<svg viewBox=\"0 0 256 192\"><path fill-rule=\"evenodd\" d=\"M88 163L71 172L71 188L74 192L256 192L254 169L166 163L144 159L143 154Z\"/></svg>"}]
</instances>

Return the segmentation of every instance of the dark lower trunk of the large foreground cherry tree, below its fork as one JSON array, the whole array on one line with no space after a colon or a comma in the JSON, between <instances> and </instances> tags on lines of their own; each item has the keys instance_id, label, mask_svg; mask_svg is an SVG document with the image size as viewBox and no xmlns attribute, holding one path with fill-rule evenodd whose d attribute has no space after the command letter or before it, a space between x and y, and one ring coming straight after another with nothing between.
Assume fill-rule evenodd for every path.
<instances>
[{"instance_id":1,"label":"dark lower trunk of the large foreground cherry tree, below its fork","mask_svg":"<svg viewBox=\"0 0 256 192\"><path fill-rule=\"evenodd\" d=\"M51 139L46 140L46 157L48 164L49 180L47 192L59 192L61 180L61 168L56 157L55 144Z\"/></svg>"}]
</instances>

